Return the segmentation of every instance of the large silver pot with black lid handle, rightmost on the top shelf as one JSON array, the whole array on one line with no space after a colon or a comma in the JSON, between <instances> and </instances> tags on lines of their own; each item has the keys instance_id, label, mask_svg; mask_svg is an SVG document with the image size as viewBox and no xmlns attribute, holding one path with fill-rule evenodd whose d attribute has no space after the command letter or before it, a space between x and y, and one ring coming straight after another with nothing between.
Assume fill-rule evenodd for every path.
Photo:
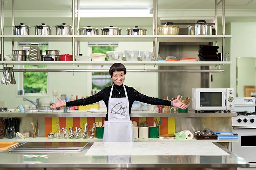
<instances>
[{"instance_id":1,"label":"large silver pot with black lid handle, rightmost on the top shelf","mask_svg":"<svg viewBox=\"0 0 256 170\"><path fill-rule=\"evenodd\" d=\"M199 20L197 24L188 26L188 35L212 35L212 25L205 24L205 20Z\"/></svg>"}]
</instances>

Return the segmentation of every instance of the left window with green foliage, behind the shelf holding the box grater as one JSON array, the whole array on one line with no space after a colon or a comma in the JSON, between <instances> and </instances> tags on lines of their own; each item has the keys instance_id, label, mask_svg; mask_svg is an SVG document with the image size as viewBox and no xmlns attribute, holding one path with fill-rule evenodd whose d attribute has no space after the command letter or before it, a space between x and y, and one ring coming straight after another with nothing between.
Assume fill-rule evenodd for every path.
<instances>
[{"instance_id":1,"label":"left window with green foliage, behind the shelf holding the box grater","mask_svg":"<svg viewBox=\"0 0 256 170\"><path fill-rule=\"evenodd\" d=\"M19 42L20 50L29 50L30 43ZM39 49L43 51L45 55L45 50L48 49L48 43L39 43ZM29 52L27 52L29 55ZM22 69L47 69L47 66L32 66L25 65L20 66ZM19 85L18 94L19 95L44 95L47 94L47 72L24 72L19 74Z\"/></svg>"}]
</instances>

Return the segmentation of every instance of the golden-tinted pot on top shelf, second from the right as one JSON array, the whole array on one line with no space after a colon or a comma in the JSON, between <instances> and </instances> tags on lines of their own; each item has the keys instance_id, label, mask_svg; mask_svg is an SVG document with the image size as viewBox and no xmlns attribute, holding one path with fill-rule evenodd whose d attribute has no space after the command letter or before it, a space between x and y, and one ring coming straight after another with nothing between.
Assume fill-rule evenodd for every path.
<instances>
[{"instance_id":1,"label":"golden-tinted pot on top shelf, second from the right","mask_svg":"<svg viewBox=\"0 0 256 170\"><path fill-rule=\"evenodd\" d=\"M164 26L157 26L157 35L178 35L179 26L174 26L172 22L167 22Z\"/></svg>"}]
</instances>

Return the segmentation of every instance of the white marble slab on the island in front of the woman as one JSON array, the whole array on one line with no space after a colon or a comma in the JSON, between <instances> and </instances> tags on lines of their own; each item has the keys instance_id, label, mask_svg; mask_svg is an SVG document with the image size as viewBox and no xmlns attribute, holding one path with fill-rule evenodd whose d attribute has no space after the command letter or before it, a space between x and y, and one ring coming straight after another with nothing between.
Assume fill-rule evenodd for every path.
<instances>
[{"instance_id":1,"label":"white marble slab on the island in front of the woman","mask_svg":"<svg viewBox=\"0 0 256 170\"><path fill-rule=\"evenodd\" d=\"M212 142L94 142L85 155L217 156L229 154Z\"/></svg>"}]
</instances>

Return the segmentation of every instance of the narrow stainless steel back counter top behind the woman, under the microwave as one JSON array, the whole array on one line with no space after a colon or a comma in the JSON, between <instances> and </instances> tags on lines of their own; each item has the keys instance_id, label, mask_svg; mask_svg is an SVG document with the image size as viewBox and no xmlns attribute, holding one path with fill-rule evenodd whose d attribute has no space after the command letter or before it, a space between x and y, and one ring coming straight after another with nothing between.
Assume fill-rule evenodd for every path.
<instances>
[{"instance_id":1,"label":"narrow stainless steel back counter top behind the woman, under the microwave","mask_svg":"<svg viewBox=\"0 0 256 170\"><path fill-rule=\"evenodd\" d=\"M106 112L0 112L0 117L106 117ZM193 111L188 113L131 112L131 117L236 117L236 113L195 113Z\"/></svg>"}]
</instances>

